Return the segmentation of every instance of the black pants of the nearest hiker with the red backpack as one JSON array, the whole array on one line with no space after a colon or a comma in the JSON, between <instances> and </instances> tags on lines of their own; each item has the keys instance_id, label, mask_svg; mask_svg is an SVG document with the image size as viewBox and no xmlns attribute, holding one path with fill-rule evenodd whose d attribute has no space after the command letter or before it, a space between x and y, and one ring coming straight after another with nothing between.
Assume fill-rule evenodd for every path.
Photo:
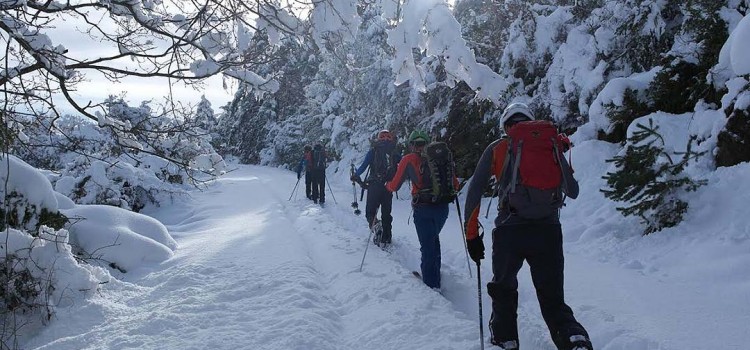
<instances>
[{"instance_id":1,"label":"black pants of the nearest hiker with the red backpack","mask_svg":"<svg viewBox=\"0 0 750 350\"><path fill-rule=\"evenodd\" d=\"M560 224L515 224L492 231L492 342L518 341L518 271L529 264L542 317L558 349L568 349L571 335L588 333L565 304L564 258Z\"/></svg>"}]
</instances>

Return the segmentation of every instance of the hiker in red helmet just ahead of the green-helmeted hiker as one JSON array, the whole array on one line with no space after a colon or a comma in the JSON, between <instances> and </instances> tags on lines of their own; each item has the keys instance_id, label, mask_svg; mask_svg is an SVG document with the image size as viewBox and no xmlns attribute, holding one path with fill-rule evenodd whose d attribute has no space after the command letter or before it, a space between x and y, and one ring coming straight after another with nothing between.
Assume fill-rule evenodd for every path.
<instances>
[{"instance_id":1,"label":"hiker in red helmet just ahead of the green-helmeted hiker","mask_svg":"<svg viewBox=\"0 0 750 350\"><path fill-rule=\"evenodd\" d=\"M353 182L363 183L360 176L369 167L367 178L364 180L364 186L367 188L365 218L372 229L377 223L376 216L380 208L382 232L376 232L373 241L381 248L391 244L393 222L391 216L393 193L385 189L385 183L393 178L399 161L401 161L401 154L396 150L393 135L388 130L381 130L375 136L372 147L367 151L362 164L351 176Z\"/></svg>"}]
</instances>

